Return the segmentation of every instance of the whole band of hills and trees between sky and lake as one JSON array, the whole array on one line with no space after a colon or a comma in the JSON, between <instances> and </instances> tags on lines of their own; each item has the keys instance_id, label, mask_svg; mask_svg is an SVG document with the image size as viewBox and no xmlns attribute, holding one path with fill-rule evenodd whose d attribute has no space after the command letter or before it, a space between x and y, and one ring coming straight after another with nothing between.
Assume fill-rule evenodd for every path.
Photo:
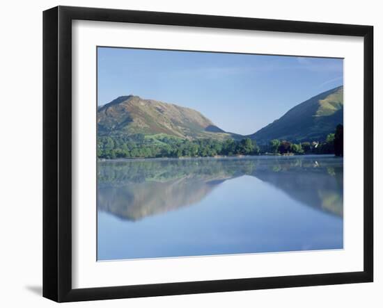
<instances>
[{"instance_id":1,"label":"whole band of hills and trees between sky and lake","mask_svg":"<svg viewBox=\"0 0 383 308\"><path fill-rule=\"evenodd\" d=\"M134 95L97 108L100 159L258 154L343 156L343 86L297 104L247 136L224 131L192 108Z\"/></svg>"}]
</instances>

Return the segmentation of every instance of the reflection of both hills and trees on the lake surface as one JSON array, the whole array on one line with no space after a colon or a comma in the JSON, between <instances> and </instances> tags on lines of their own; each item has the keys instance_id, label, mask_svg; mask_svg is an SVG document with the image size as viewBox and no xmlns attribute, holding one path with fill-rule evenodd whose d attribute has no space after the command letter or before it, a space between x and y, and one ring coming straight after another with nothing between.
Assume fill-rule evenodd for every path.
<instances>
[{"instance_id":1,"label":"reflection of both hills and trees on the lake surface","mask_svg":"<svg viewBox=\"0 0 383 308\"><path fill-rule=\"evenodd\" d=\"M343 160L332 156L99 162L97 206L140 220L196 204L224 181L243 175L274 186L286 198L343 216Z\"/></svg>"}]
</instances>

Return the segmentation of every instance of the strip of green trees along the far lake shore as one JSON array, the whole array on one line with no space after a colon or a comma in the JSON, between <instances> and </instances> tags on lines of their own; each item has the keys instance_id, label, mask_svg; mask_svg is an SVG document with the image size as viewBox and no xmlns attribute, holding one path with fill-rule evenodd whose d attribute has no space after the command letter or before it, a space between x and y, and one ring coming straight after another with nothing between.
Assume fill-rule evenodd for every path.
<instances>
[{"instance_id":1,"label":"strip of green trees along the far lake shore","mask_svg":"<svg viewBox=\"0 0 383 308\"><path fill-rule=\"evenodd\" d=\"M343 156L343 125L338 124L326 140L294 143L289 140L270 140L258 145L256 140L242 138L187 140L169 135L97 136L98 159L155 159L182 157L214 157L241 155L303 155L334 154Z\"/></svg>"}]
</instances>

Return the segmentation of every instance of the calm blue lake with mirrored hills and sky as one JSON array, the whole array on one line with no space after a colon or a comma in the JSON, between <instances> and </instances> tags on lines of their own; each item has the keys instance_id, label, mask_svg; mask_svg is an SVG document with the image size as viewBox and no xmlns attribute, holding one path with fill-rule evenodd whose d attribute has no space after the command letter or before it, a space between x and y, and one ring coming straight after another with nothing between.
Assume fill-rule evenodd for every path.
<instances>
[{"instance_id":1,"label":"calm blue lake with mirrored hills and sky","mask_svg":"<svg viewBox=\"0 0 383 308\"><path fill-rule=\"evenodd\" d=\"M100 161L97 260L343 248L332 155Z\"/></svg>"}]
</instances>

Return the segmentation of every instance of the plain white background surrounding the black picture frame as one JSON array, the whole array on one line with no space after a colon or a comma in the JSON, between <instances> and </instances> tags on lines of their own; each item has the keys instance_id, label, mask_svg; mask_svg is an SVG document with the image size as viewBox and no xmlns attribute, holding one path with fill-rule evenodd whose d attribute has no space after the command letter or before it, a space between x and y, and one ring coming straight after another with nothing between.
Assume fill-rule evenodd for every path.
<instances>
[{"instance_id":1,"label":"plain white background surrounding the black picture frame","mask_svg":"<svg viewBox=\"0 0 383 308\"><path fill-rule=\"evenodd\" d=\"M379 1L3 1L0 47L0 305L52 307L42 288L42 10L58 4L231 15L375 26L375 107L383 83ZM380 113L380 114L379 114ZM375 108L375 153L382 153L382 108ZM378 169L380 174L377 175ZM375 191L383 184L375 164ZM382 307L383 194L375 193L375 282L79 302L65 307Z\"/></svg>"}]
</instances>

